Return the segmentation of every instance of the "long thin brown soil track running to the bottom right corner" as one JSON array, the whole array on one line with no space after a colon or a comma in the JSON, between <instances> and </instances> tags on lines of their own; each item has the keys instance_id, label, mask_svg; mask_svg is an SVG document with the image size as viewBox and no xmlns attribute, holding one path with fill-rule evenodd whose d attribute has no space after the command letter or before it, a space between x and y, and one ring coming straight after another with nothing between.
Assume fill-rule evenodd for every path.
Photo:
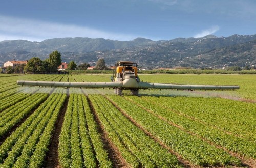
<instances>
[{"instance_id":1,"label":"long thin brown soil track running to the bottom right corner","mask_svg":"<svg viewBox=\"0 0 256 168\"><path fill-rule=\"evenodd\" d=\"M232 151L230 151L230 150L228 150L228 149L226 149L226 148L224 148L224 147L222 147L222 146L216 145L214 142L211 142L211 141L209 141L208 139L205 139L205 138L203 138L203 137L201 137L201 136L199 136L199 135L197 135L197 134L195 134L195 133L193 133L193 132L190 132L190 131L188 131L188 130L182 128L181 126L179 126L179 125L177 125L177 124L175 124L175 123L173 123L173 122L170 122L168 119L166 119L166 118L164 118L164 117L162 117L162 116L160 116L160 115L154 113L154 112L151 111L151 110L148 110L148 109L142 107L142 106L139 105L138 103L136 103L136 102L134 102L134 101L132 101L132 100L130 100L130 99L127 99L127 98L125 98L125 99L128 100L128 101L131 101L131 102L135 103L135 104L138 105L139 107L141 107L141 108L143 108L144 110L146 110L148 113L150 113L150 114L156 116L157 118L159 118L159 119L161 119L161 120L167 122L168 124L170 124L170 125L172 125L172 126L174 126L174 127L177 127L177 128L179 128L180 130L182 130L182 131L184 131L184 132L186 132L186 133L188 133L188 134L190 134L190 135L192 135L192 136L196 136L197 138L202 139L203 141L207 142L208 144L210 144L210 145L212 145L212 146L215 146L215 147L218 148L218 149L222 149L222 150L226 151L227 153L229 153L231 156L240 159L241 162L242 162L242 166L246 166L246 167L249 167L249 168L250 168L250 167L255 167L254 165L256 165L256 160L254 160L254 159L248 159L248 158L246 158L246 157L241 156L241 155L238 154L238 153L232 152ZM236 166L232 166L232 167L236 167Z\"/></svg>"}]
</instances>

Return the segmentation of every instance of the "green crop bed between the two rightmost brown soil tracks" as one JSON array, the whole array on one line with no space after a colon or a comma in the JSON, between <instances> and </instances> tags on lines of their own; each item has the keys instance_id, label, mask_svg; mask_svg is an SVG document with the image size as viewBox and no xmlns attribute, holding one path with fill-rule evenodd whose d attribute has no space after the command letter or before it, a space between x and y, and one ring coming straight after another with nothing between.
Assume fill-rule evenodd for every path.
<instances>
[{"instance_id":1,"label":"green crop bed between the two rightmost brown soil tracks","mask_svg":"<svg viewBox=\"0 0 256 168\"><path fill-rule=\"evenodd\" d=\"M149 96L134 97L125 96L133 103L142 106L144 109L150 110L152 113L163 117L165 121L175 123L186 131L193 132L194 134L200 135L202 138L208 139L214 142L218 146L222 146L230 151L237 152L243 156L248 156L251 158L256 158L256 144L248 141L244 138L234 136L232 134L226 133L214 126L204 124L198 120L193 120L186 116L180 115L172 109L163 106L163 101L156 101L156 98ZM168 104L175 103L173 101L168 101ZM202 104L203 105L203 104ZM183 107L180 107L183 108ZM196 113L194 111L194 113Z\"/></svg>"}]
</instances>

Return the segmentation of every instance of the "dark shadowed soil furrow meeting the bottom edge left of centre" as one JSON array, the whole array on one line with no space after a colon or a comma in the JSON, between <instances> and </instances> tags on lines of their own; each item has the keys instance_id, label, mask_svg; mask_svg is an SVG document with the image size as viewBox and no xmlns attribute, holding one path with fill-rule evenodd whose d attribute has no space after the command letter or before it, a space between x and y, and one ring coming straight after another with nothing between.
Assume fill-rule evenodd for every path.
<instances>
[{"instance_id":1,"label":"dark shadowed soil furrow meeting the bottom edge left of centre","mask_svg":"<svg viewBox=\"0 0 256 168\"><path fill-rule=\"evenodd\" d=\"M45 165L43 167L59 167L58 160L58 145L59 145L59 135L61 127L64 121L65 112L67 110L69 97L67 96L63 108L59 112L58 119L55 123L55 130L52 135L51 143L49 146L49 151L47 153Z\"/></svg>"}]
</instances>

